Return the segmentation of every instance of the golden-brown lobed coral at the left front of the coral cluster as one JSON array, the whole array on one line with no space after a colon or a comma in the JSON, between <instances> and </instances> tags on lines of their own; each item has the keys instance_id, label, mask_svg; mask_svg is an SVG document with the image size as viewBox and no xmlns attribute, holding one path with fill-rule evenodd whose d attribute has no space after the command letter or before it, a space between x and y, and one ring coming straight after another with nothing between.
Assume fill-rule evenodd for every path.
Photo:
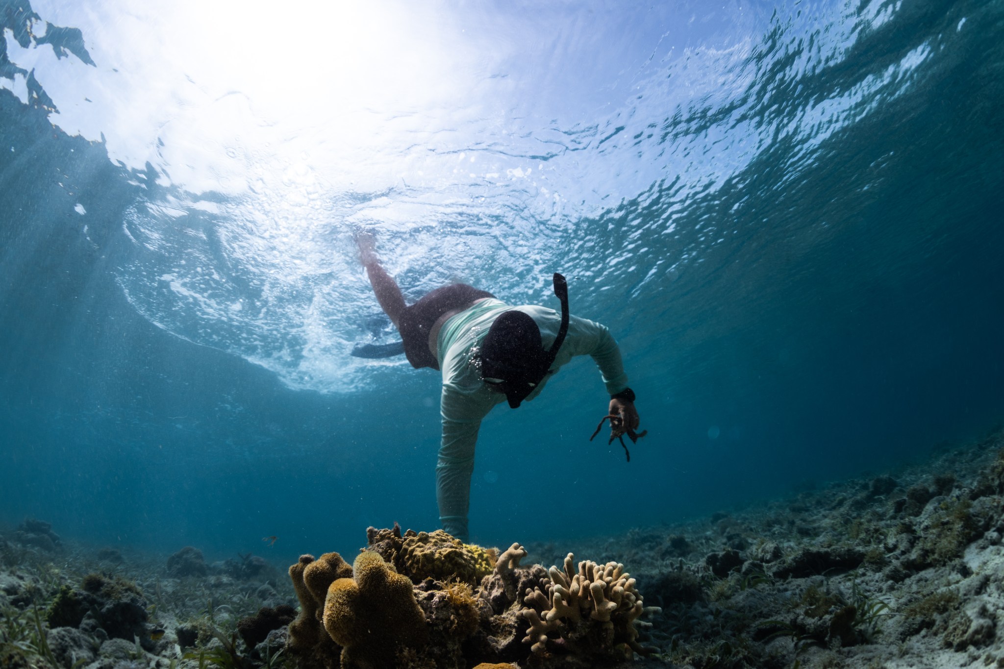
<instances>
[{"instance_id":1,"label":"golden-brown lobed coral at the left front of the coral cluster","mask_svg":"<svg viewBox=\"0 0 1004 669\"><path fill-rule=\"evenodd\" d=\"M338 579L327 590L324 629L343 647L345 669L392 667L428 634L412 582L371 551L360 553L352 569L354 579Z\"/></svg>"}]
</instances>

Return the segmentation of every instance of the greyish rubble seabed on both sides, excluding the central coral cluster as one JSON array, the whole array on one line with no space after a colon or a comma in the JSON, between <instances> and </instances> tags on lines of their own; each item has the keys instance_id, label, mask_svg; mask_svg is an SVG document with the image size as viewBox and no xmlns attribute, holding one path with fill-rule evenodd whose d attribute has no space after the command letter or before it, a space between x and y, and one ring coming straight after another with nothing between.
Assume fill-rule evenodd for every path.
<instances>
[{"instance_id":1,"label":"greyish rubble seabed on both sides, excluding the central coral cluster","mask_svg":"<svg viewBox=\"0 0 1004 669\"><path fill-rule=\"evenodd\" d=\"M1004 667L1002 540L997 430L923 462L756 507L527 545L524 566L561 566L568 553L621 563L645 605L662 611L635 623L645 656L590 661L549 632L546 653L527 646L506 659L520 667ZM191 547L172 556L86 547L34 520L0 535L0 669L304 666L285 648L298 607L287 565L250 555L207 563ZM417 584L416 593L432 598L436 588ZM458 657L451 667L465 666ZM429 662L422 666L438 666Z\"/></svg>"}]
</instances>

